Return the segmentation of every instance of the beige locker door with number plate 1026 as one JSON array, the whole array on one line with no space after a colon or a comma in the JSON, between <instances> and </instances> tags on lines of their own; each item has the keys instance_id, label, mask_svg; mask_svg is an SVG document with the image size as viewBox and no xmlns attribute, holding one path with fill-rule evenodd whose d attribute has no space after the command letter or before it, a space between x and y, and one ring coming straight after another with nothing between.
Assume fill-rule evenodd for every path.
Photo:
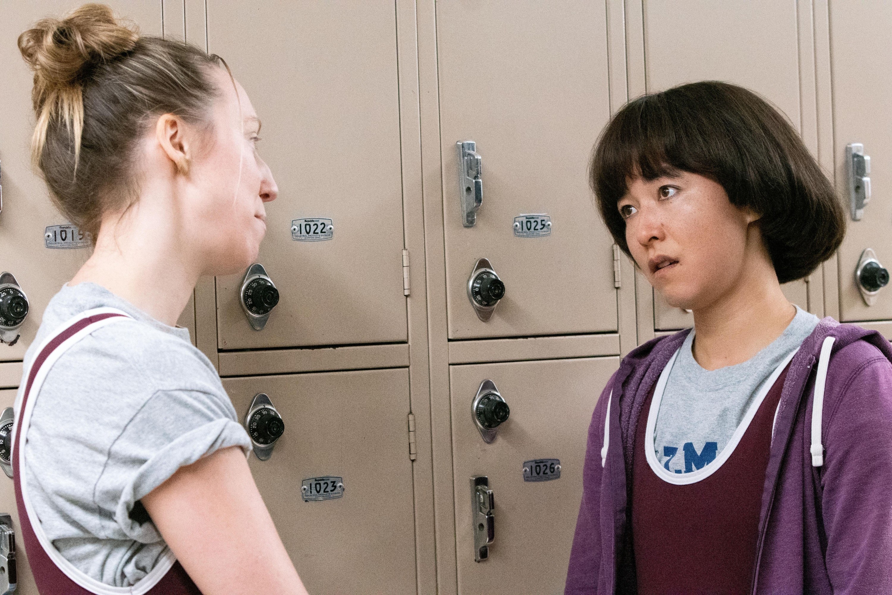
<instances>
[{"instance_id":1,"label":"beige locker door with number plate 1026","mask_svg":"<svg viewBox=\"0 0 892 595\"><path fill-rule=\"evenodd\" d=\"M458 592L563 592L582 499L591 411L618 358L550 359L450 367ZM483 442L471 405L491 380L510 407ZM524 481L524 462L559 459L560 477ZM470 478L485 475L495 499L489 558L475 562Z\"/></svg>"}]
</instances>

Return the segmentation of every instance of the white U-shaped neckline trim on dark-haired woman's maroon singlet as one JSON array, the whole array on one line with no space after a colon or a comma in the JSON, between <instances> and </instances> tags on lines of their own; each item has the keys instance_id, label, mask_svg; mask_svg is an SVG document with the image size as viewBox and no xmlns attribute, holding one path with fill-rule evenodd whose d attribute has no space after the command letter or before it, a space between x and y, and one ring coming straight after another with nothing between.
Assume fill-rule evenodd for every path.
<instances>
[{"instance_id":1,"label":"white U-shaped neckline trim on dark-haired woman's maroon singlet","mask_svg":"<svg viewBox=\"0 0 892 595\"><path fill-rule=\"evenodd\" d=\"M768 376L768 379L762 383L759 387L758 393L756 393L756 398L753 400L752 404L750 404L749 409L747 409L746 415L740 421L737 429L734 430L734 434L731 434L731 440L725 445L722 449L722 452L709 464L705 465L703 468L697 469L696 471L691 471L690 473L673 473L667 471L665 467L660 465L659 459L657 459L657 452L654 450L654 431L657 427L657 413L660 410L660 401L663 400L663 393L665 392L666 383L669 381L669 374L672 372L673 364L675 363L675 359L678 357L681 348L675 351L672 356L672 359L669 359L669 363L666 364L665 368L663 368L663 372L660 374L660 378L657 381L657 388L654 391L654 398L650 401L650 410L648 411L648 426L647 430L644 434L644 445L645 445L645 455L648 459L648 465L651 469L654 470L654 473L657 474L657 477L665 481L666 483L674 483L675 485L688 485L690 483L697 483L706 479L709 475L713 475L715 471L718 470L719 467L722 467L723 463L731 457L731 453L734 452L734 449L737 448L740 439L743 437L743 434L746 433L747 427L749 427L749 423L753 421L753 417L756 417L756 411L759 409L759 405L762 404L762 401L765 399L765 395L768 394L769 391L772 390L772 386L774 382L780 376L780 373L783 372L783 369L787 367L790 359L793 359L793 356L796 355L799 349L797 348L792 353L790 353L783 361L780 362L780 365L777 368L774 368L771 376Z\"/></svg>"}]
</instances>

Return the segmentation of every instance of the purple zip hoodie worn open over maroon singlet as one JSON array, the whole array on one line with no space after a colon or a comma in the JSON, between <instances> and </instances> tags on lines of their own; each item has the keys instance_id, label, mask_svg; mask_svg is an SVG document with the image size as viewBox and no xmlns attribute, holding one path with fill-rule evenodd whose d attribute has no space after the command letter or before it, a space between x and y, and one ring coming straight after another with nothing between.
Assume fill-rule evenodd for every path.
<instances>
[{"instance_id":1,"label":"purple zip hoodie worn open over maroon singlet","mask_svg":"<svg viewBox=\"0 0 892 595\"><path fill-rule=\"evenodd\" d=\"M626 486L641 407L687 331L627 355L589 429L566 595L636 592ZM823 400L823 465L812 466L814 368L835 337ZM790 362L765 471L754 594L892 593L892 345L824 318ZM611 392L612 397L610 397ZM601 467L607 402L612 402ZM684 585L679 585L683 592Z\"/></svg>"}]
</instances>

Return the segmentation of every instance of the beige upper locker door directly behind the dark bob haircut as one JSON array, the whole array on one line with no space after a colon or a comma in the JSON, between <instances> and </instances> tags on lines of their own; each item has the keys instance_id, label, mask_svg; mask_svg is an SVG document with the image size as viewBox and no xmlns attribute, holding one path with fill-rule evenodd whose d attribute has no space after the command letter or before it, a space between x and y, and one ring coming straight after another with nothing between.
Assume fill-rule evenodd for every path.
<instances>
[{"instance_id":1,"label":"beige upper locker door directly behind the dark bob haircut","mask_svg":"<svg viewBox=\"0 0 892 595\"><path fill-rule=\"evenodd\" d=\"M766 97L802 131L795 2L644 0L644 36L648 93L726 80ZM784 284L783 291L808 310L805 281ZM654 318L657 329L694 325L690 313L668 305L658 293Z\"/></svg>"}]
</instances>

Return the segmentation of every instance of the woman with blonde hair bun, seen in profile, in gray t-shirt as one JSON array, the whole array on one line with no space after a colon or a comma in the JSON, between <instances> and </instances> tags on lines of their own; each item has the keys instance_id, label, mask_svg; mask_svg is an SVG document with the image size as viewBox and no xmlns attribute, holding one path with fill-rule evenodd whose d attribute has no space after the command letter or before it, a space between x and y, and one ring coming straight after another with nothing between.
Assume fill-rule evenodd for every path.
<instances>
[{"instance_id":1,"label":"woman with blonde hair bun, seen in profile, in gray t-shirt","mask_svg":"<svg viewBox=\"0 0 892 595\"><path fill-rule=\"evenodd\" d=\"M95 250L25 356L13 467L44 595L305 595L219 376L176 327L202 275L244 270L277 187L219 58L87 4L19 38L34 158Z\"/></svg>"}]
</instances>

